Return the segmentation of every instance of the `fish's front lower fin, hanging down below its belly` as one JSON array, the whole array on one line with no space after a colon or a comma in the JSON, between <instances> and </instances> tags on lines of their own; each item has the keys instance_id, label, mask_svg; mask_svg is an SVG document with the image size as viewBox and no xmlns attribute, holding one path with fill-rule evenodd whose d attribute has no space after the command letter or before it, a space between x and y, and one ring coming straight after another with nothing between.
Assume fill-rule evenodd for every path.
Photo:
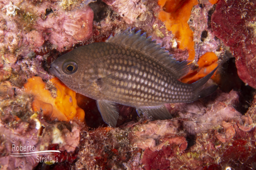
<instances>
[{"instance_id":1,"label":"fish's front lower fin, hanging down below its belly","mask_svg":"<svg viewBox=\"0 0 256 170\"><path fill-rule=\"evenodd\" d=\"M116 127L116 122L119 116L118 105L107 100L97 100L96 103L103 120L109 126Z\"/></svg>"}]
</instances>

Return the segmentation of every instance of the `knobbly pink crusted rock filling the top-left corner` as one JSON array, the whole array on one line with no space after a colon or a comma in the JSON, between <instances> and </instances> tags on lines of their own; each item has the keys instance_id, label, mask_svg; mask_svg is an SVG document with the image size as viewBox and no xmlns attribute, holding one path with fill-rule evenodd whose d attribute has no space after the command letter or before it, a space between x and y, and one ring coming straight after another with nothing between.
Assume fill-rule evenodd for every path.
<instances>
[{"instance_id":1,"label":"knobbly pink crusted rock filling the top-left corner","mask_svg":"<svg viewBox=\"0 0 256 170\"><path fill-rule=\"evenodd\" d=\"M0 8L7 3L2 2ZM8 50L26 55L29 51L43 50L46 41L53 49L64 51L92 36L93 11L86 5L65 10L69 9L65 2L13 3L20 8L17 15L10 18L2 13L0 16L0 48L3 53Z\"/></svg>"}]
</instances>

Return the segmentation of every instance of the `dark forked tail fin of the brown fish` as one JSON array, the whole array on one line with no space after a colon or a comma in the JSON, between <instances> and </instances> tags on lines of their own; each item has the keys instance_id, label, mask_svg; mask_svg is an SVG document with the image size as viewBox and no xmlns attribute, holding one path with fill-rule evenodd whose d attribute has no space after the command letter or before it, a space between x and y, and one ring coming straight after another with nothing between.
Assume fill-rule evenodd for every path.
<instances>
[{"instance_id":1,"label":"dark forked tail fin of the brown fish","mask_svg":"<svg viewBox=\"0 0 256 170\"><path fill-rule=\"evenodd\" d=\"M192 84L195 92L195 96L192 99L192 101L206 97L216 91L216 89L218 88L218 85L211 85L208 87L205 87L204 85L210 79L210 77L212 77L212 75L215 73L217 69L218 69L218 66L208 75L206 75L205 77L201 78L200 80Z\"/></svg>"}]
</instances>

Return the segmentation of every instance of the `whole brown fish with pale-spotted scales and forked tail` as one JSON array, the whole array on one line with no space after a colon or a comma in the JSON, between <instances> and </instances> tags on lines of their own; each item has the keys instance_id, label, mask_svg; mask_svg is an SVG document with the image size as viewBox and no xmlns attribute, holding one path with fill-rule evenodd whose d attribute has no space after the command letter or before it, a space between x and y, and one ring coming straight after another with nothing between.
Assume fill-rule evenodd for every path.
<instances>
[{"instance_id":1,"label":"whole brown fish with pale-spotted scales and forked tail","mask_svg":"<svg viewBox=\"0 0 256 170\"><path fill-rule=\"evenodd\" d=\"M179 81L192 67L191 61L177 62L141 30L127 29L61 55L50 72L77 93L96 100L103 120L116 126L117 104L135 107L153 119L171 119L164 104L191 103L215 92L205 87L217 67L195 83Z\"/></svg>"}]
</instances>

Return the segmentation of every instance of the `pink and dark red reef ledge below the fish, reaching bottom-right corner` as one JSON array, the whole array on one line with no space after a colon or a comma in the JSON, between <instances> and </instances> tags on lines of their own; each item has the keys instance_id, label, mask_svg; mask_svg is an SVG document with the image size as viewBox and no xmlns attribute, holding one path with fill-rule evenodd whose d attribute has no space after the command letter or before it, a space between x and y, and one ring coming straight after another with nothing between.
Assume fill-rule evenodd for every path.
<instances>
[{"instance_id":1,"label":"pink and dark red reef ledge below the fish, reaching bottom-right corner","mask_svg":"<svg viewBox=\"0 0 256 170\"><path fill-rule=\"evenodd\" d=\"M252 142L255 128L251 116L242 116L234 107L238 93L220 90L212 97L191 104L171 104L171 120L128 122L120 128L85 129L82 133L81 157L74 167L120 169L207 169L226 168L234 162L236 147L241 154L256 156ZM248 142L248 144L246 144ZM227 150L226 150L227 149ZM228 156L228 157L225 157ZM113 161L117 160L117 161ZM219 163L221 161L221 164ZM242 158L230 164L241 169L252 167Z\"/></svg>"}]
</instances>

